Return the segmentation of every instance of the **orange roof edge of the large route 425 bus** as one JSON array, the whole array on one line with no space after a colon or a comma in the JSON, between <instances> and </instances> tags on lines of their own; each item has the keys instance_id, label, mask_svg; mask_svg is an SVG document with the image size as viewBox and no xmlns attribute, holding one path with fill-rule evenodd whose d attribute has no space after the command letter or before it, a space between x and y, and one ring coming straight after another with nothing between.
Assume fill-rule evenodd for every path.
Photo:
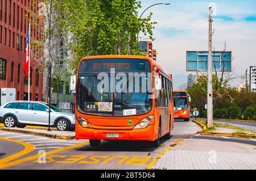
<instances>
[{"instance_id":1,"label":"orange roof edge of the large route 425 bus","mask_svg":"<svg viewBox=\"0 0 256 181\"><path fill-rule=\"evenodd\" d=\"M100 58L137 58L137 59L146 59L148 61L150 61L150 63L152 64L152 66L156 66L160 71L162 71L162 73L164 73L167 77L170 77L170 75L167 73L166 70L164 70L159 64L156 63L156 61L154 61L152 58L148 57L148 56L135 56L135 55L122 55L122 54L115 54L115 55L100 55L100 56L89 56L89 57L83 57L81 58L80 62L82 60L89 60L89 59L100 59Z\"/></svg>"}]
</instances>

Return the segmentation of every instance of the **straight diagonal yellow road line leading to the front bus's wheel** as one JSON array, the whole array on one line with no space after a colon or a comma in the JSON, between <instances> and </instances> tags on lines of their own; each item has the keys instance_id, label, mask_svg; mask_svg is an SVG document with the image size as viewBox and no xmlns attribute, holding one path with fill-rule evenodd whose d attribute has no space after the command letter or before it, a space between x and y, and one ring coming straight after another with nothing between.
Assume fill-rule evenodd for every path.
<instances>
[{"instance_id":1,"label":"straight diagonal yellow road line leading to the front bus's wheel","mask_svg":"<svg viewBox=\"0 0 256 181\"><path fill-rule=\"evenodd\" d=\"M60 148L60 149L56 149L56 150L51 150L51 151L46 152L46 155L59 153L60 151L70 150L70 149L77 148L77 147L84 146L84 145L88 145L88 144L89 144L89 142L87 141L87 142L84 142L84 143L81 143L81 144L76 144L76 145L72 145L72 146L67 146L67 147L65 147L65 148ZM18 165L18 164L20 164L20 163L32 161L32 160L34 160L34 159L37 159L37 158L40 157L40 156L41 156L40 154L37 154L37 155L33 155L33 156L31 156L31 157L19 159L19 160L17 160L17 161L5 163L5 164L3 164L3 165L0 165L0 169L6 168L6 167L10 167L10 166L14 166L14 165Z\"/></svg>"}]
</instances>

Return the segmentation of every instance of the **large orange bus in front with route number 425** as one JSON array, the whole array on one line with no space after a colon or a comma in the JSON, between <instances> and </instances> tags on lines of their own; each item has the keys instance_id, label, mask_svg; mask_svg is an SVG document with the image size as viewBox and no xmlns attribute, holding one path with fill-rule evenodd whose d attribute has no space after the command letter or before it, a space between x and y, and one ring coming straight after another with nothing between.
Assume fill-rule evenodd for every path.
<instances>
[{"instance_id":1,"label":"large orange bus in front with route number 425","mask_svg":"<svg viewBox=\"0 0 256 181\"><path fill-rule=\"evenodd\" d=\"M158 147L160 137L171 137L172 77L150 57L85 57L76 80L77 140L88 139L91 146L142 140Z\"/></svg>"}]
</instances>

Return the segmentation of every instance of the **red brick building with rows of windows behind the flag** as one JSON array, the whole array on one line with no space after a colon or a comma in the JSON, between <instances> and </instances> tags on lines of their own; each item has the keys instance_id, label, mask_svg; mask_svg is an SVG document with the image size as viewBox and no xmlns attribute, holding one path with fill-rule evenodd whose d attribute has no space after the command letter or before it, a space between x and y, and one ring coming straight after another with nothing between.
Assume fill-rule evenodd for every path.
<instances>
[{"instance_id":1,"label":"red brick building with rows of windows behind the flag","mask_svg":"<svg viewBox=\"0 0 256 181\"><path fill-rule=\"evenodd\" d=\"M24 77L23 61L28 31L25 17L30 16L29 2L31 0L0 0L0 89L15 88L16 100L28 98L28 79ZM35 29L31 27L31 39L40 38ZM39 73L40 67L33 61L30 64L30 98L42 100L43 74Z\"/></svg>"}]
</instances>

